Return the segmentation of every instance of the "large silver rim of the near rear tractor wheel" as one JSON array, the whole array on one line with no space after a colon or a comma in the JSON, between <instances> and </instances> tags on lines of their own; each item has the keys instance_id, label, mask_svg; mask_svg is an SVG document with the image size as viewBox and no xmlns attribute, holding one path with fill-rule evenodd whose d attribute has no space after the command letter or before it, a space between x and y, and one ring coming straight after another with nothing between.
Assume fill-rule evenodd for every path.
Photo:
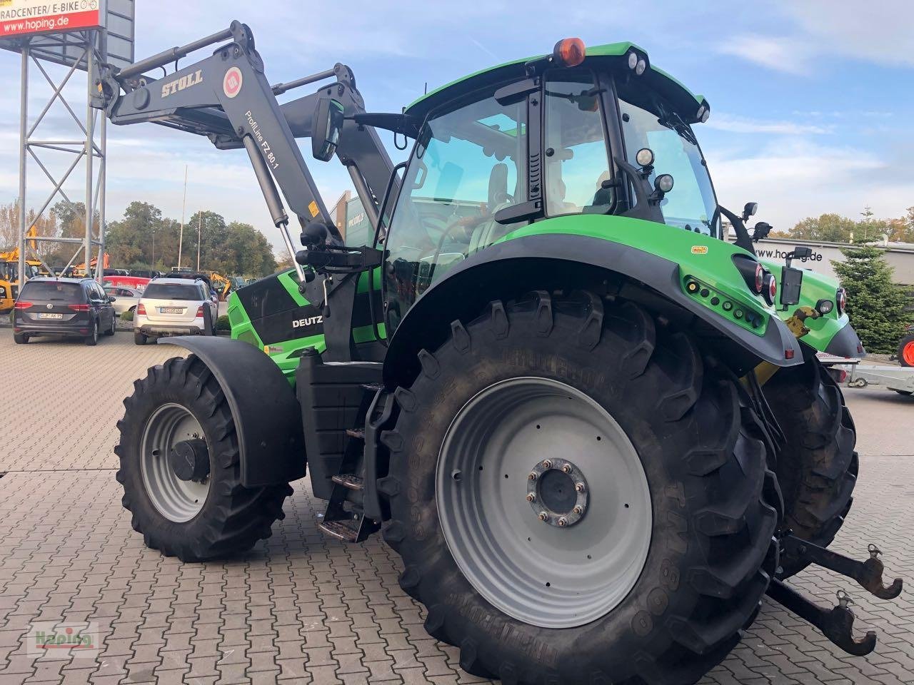
<instances>
[{"instance_id":1,"label":"large silver rim of the near rear tractor wheel","mask_svg":"<svg viewBox=\"0 0 914 685\"><path fill-rule=\"evenodd\" d=\"M578 492L572 502L553 473L560 469L572 488L586 479L585 500ZM544 490L531 502L533 474ZM562 511L545 503L555 492L565 493L563 507L583 502L577 520L569 512L557 523ZM611 612L637 583L651 545L651 494L631 440L588 395L547 378L490 385L462 407L441 445L436 496L467 580L534 626L583 626Z\"/></svg>"}]
</instances>

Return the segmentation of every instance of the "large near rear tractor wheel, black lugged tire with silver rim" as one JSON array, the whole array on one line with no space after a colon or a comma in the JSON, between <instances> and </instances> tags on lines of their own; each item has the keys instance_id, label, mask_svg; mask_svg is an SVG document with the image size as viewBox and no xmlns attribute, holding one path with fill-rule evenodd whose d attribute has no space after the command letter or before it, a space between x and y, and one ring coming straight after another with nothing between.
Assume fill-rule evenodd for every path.
<instances>
[{"instance_id":1,"label":"large near rear tractor wheel, black lugged tire with silver rim","mask_svg":"<svg viewBox=\"0 0 914 685\"><path fill-rule=\"evenodd\" d=\"M587 292L494 301L451 328L420 352L381 437L384 537L426 630L460 648L462 669L505 683L699 680L739 642L777 566L769 446L736 379L640 307L604 312ZM606 432L586 416L609 416ZM561 471L588 481L577 521L547 502L571 506ZM632 551L625 536L643 555L612 556ZM618 584L591 585L601 564Z\"/></svg>"}]
</instances>

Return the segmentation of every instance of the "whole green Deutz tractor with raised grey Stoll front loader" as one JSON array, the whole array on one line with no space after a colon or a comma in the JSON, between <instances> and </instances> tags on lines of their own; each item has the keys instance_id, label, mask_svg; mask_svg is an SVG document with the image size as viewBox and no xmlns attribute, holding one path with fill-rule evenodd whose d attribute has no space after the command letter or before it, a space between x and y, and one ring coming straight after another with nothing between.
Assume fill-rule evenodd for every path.
<instances>
[{"instance_id":1,"label":"whole green Deutz tractor with raised grey Stoll front loader","mask_svg":"<svg viewBox=\"0 0 914 685\"><path fill-rule=\"evenodd\" d=\"M376 114L341 64L271 87L236 22L98 88L114 123L243 147L295 258L232 295L233 340L163 341L191 354L125 400L117 478L148 546L249 548L307 465L324 532L381 531L429 633L476 675L694 682L766 594L845 651L874 648L845 593L824 608L784 582L819 564L901 589L875 546L864 563L824 549L854 424L797 336L847 331L857 353L856 336L836 309L800 321L790 271L776 302L744 221L717 207L692 128L707 101L642 48L566 39ZM378 130L415 141L402 168ZM344 245L296 138L345 165L373 246ZM775 304L800 305L791 326Z\"/></svg>"}]
</instances>

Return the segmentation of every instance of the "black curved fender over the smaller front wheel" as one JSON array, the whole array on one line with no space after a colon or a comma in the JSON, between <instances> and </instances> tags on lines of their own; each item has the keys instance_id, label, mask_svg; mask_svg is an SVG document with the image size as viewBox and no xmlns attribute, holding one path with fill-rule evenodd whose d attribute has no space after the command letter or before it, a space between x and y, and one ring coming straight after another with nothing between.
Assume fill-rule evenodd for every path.
<instances>
[{"instance_id":1,"label":"black curved fender over the smaller front wheel","mask_svg":"<svg viewBox=\"0 0 914 685\"><path fill-rule=\"evenodd\" d=\"M247 342L205 336L160 338L194 353L216 376L235 422L246 488L304 476L302 412L289 381Z\"/></svg>"}]
</instances>

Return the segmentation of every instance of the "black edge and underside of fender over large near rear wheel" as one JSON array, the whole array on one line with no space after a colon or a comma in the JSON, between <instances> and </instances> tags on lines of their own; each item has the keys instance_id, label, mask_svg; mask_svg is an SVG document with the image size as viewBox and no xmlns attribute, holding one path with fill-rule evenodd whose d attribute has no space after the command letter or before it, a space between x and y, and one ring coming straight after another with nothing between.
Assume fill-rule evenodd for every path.
<instances>
[{"instance_id":1,"label":"black edge and underside of fender over large near rear wheel","mask_svg":"<svg viewBox=\"0 0 914 685\"><path fill-rule=\"evenodd\" d=\"M685 234L685 231L677 229L676 233ZM716 335L725 337L757 360L756 363L802 364L799 342L773 311L757 310L767 322L760 332L752 332L688 296L682 285L683 276L695 269L685 264L681 268L680 263L672 259L611 240L545 234L516 237L485 248L454 266L426 290L399 321L389 342L384 364L385 384L402 385L409 379L417 371L416 355L423 347L443 342L442 336L450 331L451 321L469 321L489 300L516 297L531 287L549 287L550 276L556 271L550 265L559 262L570 267L572 273L587 270L621 276L629 287L633 285L653 293L657 300L664 300L664 305L672 304L675 310L694 315ZM733 269L736 271L735 267ZM596 284L599 285L600 280ZM552 285L568 288L572 284L558 282ZM589 287L586 283L573 284L574 287L582 285ZM625 295L624 290L622 295ZM444 333L436 339L436 332L441 331Z\"/></svg>"}]
</instances>

